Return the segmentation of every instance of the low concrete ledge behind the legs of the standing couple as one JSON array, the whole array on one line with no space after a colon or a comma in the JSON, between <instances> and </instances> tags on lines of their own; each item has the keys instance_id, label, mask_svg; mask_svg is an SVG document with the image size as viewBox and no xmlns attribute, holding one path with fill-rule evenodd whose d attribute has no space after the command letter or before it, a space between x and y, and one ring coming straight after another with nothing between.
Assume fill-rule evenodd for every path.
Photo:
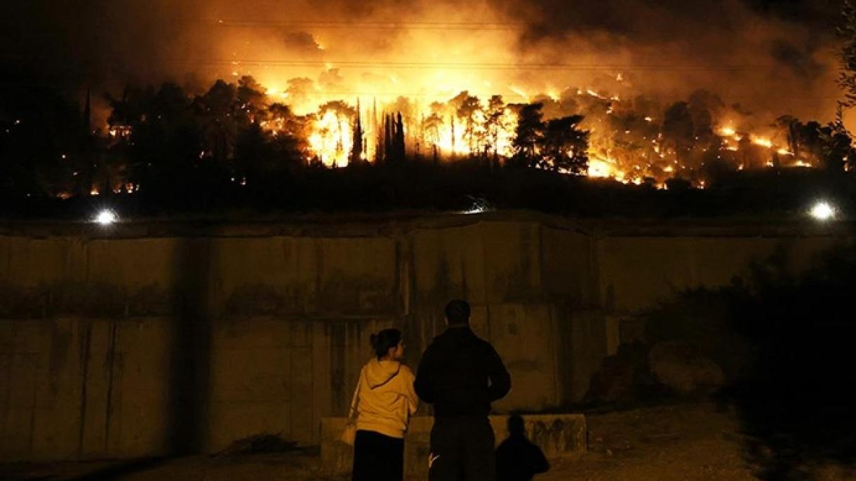
<instances>
[{"instance_id":1,"label":"low concrete ledge behind the legs of the standing couple","mask_svg":"<svg viewBox=\"0 0 856 481\"><path fill-rule=\"evenodd\" d=\"M586 453L586 416L583 414L533 414L524 415L523 419L526 437L541 448L548 460L576 458ZM339 440L345 421L345 418L321 419L321 466L329 474L351 471L354 449ZM410 420L410 431L404 445L406 478L427 479L433 424L430 417ZM508 437L508 416L490 416L490 425L498 446Z\"/></svg>"}]
</instances>

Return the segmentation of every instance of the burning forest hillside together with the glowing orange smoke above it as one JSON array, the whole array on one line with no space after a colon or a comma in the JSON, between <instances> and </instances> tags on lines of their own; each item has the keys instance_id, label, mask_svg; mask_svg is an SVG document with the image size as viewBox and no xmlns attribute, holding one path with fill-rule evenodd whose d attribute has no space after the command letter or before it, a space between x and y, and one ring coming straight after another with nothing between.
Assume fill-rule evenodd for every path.
<instances>
[{"instance_id":1,"label":"burning forest hillside together with the glowing orange smoke above it","mask_svg":"<svg viewBox=\"0 0 856 481\"><path fill-rule=\"evenodd\" d=\"M56 175L81 175L51 194L135 193L158 163L215 165L250 187L294 165L399 157L704 187L722 172L856 158L843 124L799 120L829 119L836 101L827 44L805 49L804 31L714 4L689 18L639 7L605 32L586 21L593 10L569 5L573 15L554 25L550 9L530 7L336 3L320 18L298 3L236 12L215 0L187 21L158 18L175 42L156 42L145 55L158 62L139 62L157 71L105 74L95 87L115 96L98 109L106 122L92 124L113 164L68 162ZM637 20L661 16L693 42Z\"/></svg>"}]
</instances>

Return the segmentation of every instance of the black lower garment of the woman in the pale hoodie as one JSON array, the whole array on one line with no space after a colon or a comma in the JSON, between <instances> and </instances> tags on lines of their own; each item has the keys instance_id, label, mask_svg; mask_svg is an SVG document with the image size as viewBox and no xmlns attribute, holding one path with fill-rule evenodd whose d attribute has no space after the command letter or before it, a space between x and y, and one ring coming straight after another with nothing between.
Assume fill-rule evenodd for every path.
<instances>
[{"instance_id":1,"label":"black lower garment of the woman in the pale hoodie","mask_svg":"<svg viewBox=\"0 0 856 481\"><path fill-rule=\"evenodd\" d=\"M401 481L404 478L404 440L374 431L354 437L353 481Z\"/></svg>"}]
</instances>

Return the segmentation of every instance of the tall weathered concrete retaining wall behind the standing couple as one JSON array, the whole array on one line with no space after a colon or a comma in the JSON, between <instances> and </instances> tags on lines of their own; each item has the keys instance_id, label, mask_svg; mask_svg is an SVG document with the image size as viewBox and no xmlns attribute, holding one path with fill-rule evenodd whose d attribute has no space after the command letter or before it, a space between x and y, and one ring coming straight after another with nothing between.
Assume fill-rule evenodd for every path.
<instances>
[{"instance_id":1,"label":"tall weathered concrete retaining wall behind the standing couple","mask_svg":"<svg viewBox=\"0 0 856 481\"><path fill-rule=\"evenodd\" d=\"M211 452L265 432L318 444L372 331L404 330L416 365L457 297L511 371L496 411L553 409L586 394L639 310L776 252L799 271L849 240L831 225L610 225L509 212L0 226L0 460Z\"/></svg>"}]
</instances>

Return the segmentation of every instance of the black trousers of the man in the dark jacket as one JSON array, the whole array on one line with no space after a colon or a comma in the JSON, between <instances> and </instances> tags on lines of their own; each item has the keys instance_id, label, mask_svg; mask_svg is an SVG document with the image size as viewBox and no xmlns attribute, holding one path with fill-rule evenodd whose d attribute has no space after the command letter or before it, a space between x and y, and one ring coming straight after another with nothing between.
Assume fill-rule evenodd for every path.
<instances>
[{"instance_id":1,"label":"black trousers of the man in the dark jacket","mask_svg":"<svg viewBox=\"0 0 856 481\"><path fill-rule=\"evenodd\" d=\"M486 417L436 418L430 481L496 481L493 428Z\"/></svg>"}]
</instances>

